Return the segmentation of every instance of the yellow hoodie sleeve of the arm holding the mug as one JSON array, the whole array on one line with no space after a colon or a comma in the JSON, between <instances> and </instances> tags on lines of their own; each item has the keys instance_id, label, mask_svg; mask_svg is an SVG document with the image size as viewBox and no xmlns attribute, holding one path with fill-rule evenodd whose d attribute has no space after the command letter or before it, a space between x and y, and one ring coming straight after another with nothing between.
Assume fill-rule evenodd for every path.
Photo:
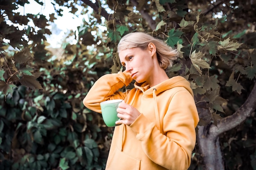
<instances>
[{"instance_id":1,"label":"yellow hoodie sleeve of the arm holding the mug","mask_svg":"<svg viewBox=\"0 0 256 170\"><path fill-rule=\"evenodd\" d=\"M168 170L187 170L195 147L195 127L198 112L191 94L177 91L167 108L163 121L163 135L154 122L141 114L130 127L145 154L155 163Z\"/></svg>"}]
</instances>

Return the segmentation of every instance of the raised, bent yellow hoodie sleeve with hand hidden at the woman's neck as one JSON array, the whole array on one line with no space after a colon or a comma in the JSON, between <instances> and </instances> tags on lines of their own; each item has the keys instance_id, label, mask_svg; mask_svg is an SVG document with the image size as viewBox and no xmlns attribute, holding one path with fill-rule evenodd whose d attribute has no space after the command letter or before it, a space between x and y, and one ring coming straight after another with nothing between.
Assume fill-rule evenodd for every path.
<instances>
[{"instance_id":1,"label":"raised, bent yellow hoodie sleeve with hand hidden at the woman's neck","mask_svg":"<svg viewBox=\"0 0 256 170\"><path fill-rule=\"evenodd\" d=\"M132 77L127 72L106 74L101 76L90 88L83 99L83 104L95 112L101 113L100 102L110 99L124 99L126 93L118 91L132 82Z\"/></svg>"}]
</instances>

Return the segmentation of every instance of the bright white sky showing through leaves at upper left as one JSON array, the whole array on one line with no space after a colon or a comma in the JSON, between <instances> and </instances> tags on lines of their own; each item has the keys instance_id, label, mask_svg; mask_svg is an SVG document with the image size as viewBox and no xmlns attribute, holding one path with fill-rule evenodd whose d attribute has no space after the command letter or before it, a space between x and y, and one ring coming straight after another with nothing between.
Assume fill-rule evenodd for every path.
<instances>
[{"instance_id":1,"label":"bright white sky showing through leaves at upper left","mask_svg":"<svg viewBox=\"0 0 256 170\"><path fill-rule=\"evenodd\" d=\"M16 12L20 12L20 15L26 15L27 13L31 14L43 14L46 16L47 19L49 19L49 14L54 13L54 7L53 4L51 4L51 0L42 0L44 5L40 5L34 0L29 0L29 4L25 4L24 7L20 6ZM77 17L76 15L70 13L71 9L63 8L63 16L56 16L56 20L54 20L54 23L51 23L50 26L47 28L52 31L52 35L46 35L47 42L51 44L51 47L53 48L59 48L61 47L62 39L65 36L66 33L68 33L70 30L75 31L77 29L77 26L81 26L83 23L83 18L85 21L88 21L87 15L79 15ZM80 13L82 8L79 8L79 11L77 13ZM31 25L34 25L32 22ZM76 42L74 42L76 43Z\"/></svg>"}]
</instances>

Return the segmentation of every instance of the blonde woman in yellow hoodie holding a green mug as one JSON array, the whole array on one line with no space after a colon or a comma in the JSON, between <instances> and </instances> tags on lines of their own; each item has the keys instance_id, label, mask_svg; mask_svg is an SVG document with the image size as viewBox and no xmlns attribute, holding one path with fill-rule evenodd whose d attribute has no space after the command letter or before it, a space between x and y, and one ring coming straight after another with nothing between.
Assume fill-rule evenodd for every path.
<instances>
[{"instance_id":1,"label":"blonde woman in yellow hoodie holding a green mug","mask_svg":"<svg viewBox=\"0 0 256 170\"><path fill-rule=\"evenodd\" d=\"M83 104L101 113L100 102L124 99L106 170L186 170L195 147L198 112L190 83L165 72L177 56L162 40L129 33L118 44L124 72L100 77ZM134 88L118 91L135 79Z\"/></svg>"}]
</instances>

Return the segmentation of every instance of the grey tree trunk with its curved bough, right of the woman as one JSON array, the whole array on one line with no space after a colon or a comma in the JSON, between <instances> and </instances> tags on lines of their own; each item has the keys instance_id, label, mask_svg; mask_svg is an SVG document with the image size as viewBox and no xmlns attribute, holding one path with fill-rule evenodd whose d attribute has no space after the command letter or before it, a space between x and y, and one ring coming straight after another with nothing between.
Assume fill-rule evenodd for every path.
<instances>
[{"instance_id":1,"label":"grey tree trunk with its curved bough, right of the woman","mask_svg":"<svg viewBox=\"0 0 256 170\"><path fill-rule=\"evenodd\" d=\"M220 119L217 126L198 126L197 141L205 170L225 170L219 136L242 124L256 109L256 83L245 103L233 114Z\"/></svg>"}]
</instances>

